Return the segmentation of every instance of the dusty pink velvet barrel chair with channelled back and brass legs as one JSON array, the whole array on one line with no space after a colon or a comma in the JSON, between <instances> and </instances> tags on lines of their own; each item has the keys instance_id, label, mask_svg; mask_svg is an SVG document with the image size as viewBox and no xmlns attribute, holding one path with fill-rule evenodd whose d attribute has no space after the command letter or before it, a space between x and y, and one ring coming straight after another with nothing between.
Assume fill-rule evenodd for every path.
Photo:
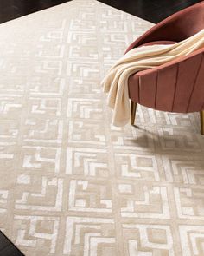
<instances>
[{"instance_id":1,"label":"dusty pink velvet barrel chair with channelled back and brass legs","mask_svg":"<svg viewBox=\"0 0 204 256\"><path fill-rule=\"evenodd\" d=\"M131 43L129 51L142 45L172 44L204 29L204 1L194 4L156 24ZM137 103L177 113L200 112L204 135L204 48L153 69L131 75L131 124Z\"/></svg>"}]
</instances>

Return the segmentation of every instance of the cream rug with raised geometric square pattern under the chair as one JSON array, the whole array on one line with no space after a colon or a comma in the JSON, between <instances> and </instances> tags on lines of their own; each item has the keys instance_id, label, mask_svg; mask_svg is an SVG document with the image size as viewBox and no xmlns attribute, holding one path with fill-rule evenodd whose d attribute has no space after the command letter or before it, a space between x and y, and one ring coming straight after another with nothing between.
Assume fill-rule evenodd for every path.
<instances>
[{"instance_id":1,"label":"cream rug with raised geometric square pattern under the chair","mask_svg":"<svg viewBox=\"0 0 204 256\"><path fill-rule=\"evenodd\" d=\"M152 25L94 0L0 25L0 228L26 256L204 255L199 115L115 128L99 85Z\"/></svg>"}]
</instances>

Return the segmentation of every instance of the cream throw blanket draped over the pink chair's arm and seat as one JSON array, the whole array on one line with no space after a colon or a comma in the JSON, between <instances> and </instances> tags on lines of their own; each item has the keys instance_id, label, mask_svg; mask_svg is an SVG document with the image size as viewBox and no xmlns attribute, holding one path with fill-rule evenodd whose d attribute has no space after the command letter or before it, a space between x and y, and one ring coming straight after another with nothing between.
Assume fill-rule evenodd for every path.
<instances>
[{"instance_id":1,"label":"cream throw blanket draped over the pink chair's arm and seat","mask_svg":"<svg viewBox=\"0 0 204 256\"><path fill-rule=\"evenodd\" d=\"M171 45L149 45L131 49L109 70L102 84L108 94L108 106L113 109L112 123L124 126L130 121L131 109L128 95L128 78L144 69L187 56L204 47L204 30L179 43Z\"/></svg>"}]
</instances>

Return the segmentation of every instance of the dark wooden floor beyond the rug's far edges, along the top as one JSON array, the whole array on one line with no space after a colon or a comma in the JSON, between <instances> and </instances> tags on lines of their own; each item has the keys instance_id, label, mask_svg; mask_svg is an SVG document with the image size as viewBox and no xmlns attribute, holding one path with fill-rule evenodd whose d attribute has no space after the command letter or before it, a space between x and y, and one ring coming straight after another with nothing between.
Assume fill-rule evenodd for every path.
<instances>
[{"instance_id":1,"label":"dark wooden floor beyond the rug's far edges, along the top","mask_svg":"<svg viewBox=\"0 0 204 256\"><path fill-rule=\"evenodd\" d=\"M0 23L25 16L37 10L43 10L54 5L68 2L67 0L1 0ZM182 10L198 0L99 0L119 10L124 10L134 16L139 16L151 23L158 23L165 17Z\"/></svg>"}]
</instances>

